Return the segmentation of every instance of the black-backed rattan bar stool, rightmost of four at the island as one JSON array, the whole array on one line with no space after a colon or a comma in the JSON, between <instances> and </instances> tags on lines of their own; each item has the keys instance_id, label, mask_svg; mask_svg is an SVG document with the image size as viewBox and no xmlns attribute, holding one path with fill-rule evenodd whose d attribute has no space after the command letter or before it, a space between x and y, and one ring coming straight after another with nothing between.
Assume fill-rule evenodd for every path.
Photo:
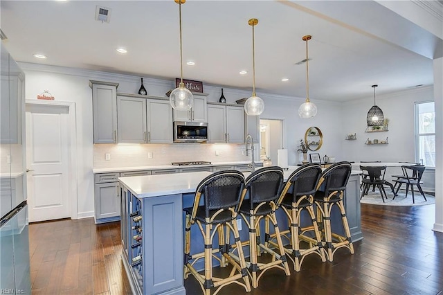
<instances>
[{"instance_id":1,"label":"black-backed rattan bar stool, rightmost of four at the island","mask_svg":"<svg viewBox=\"0 0 443 295\"><path fill-rule=\"evenodd\" d=\"M329 166L329 168L323 171L318 182L318 190L314 195L314 203L317 205L317 212L319 213L317 215L318 222L323 226L323 242L325 242L329 261L333 261L335 251L341 247L346 247L351 254L354 254L354 245L352 244L343 204L343 197L351 170L352 166L349 162L338 162ZM341 212L341 223L343 224L345 236L332 232L331 211L334 205L338 206Z\"/></svg>"}]
</instances>

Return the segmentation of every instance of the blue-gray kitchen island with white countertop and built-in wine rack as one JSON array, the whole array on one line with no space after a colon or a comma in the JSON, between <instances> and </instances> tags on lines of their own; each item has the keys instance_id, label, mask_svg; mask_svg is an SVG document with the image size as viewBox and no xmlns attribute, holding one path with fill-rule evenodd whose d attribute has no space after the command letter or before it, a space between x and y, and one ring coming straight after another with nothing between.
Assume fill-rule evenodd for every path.
<instances>
[{"instance_id":1,"label":"blue-gray kitchen island with white countertop and built-in wine rack","mask_svg":"<svg viewBox=\"0 0 443 295\"><path fill-rule=\"evenodd\" d=\"M286 180L297 167L284 171ZM245 177L250 172L245 172ZM211 172L120 177L123 263L134 294L186 294L183 285L183 211L192 206L200 181ZM353 171L345 191L352 241L361 240L359 174ZM332 217L341 222L338 212ZM279 217L284 223L284 214ZM197 231L194 233L198 234ZM199 238L192 236L191 240ZM248 239L243 224L242 240ZM201 239L201 238L199 238ZM199 240L197 240L199 241ZM198 242L199 246L203 246ZM192 252L201 251L191 242ZM247 253L245 252L245 255ZM197 269L199 267L197 266ZM203 266L201 267L203 268Z\"/></svg>"}]
</instances>

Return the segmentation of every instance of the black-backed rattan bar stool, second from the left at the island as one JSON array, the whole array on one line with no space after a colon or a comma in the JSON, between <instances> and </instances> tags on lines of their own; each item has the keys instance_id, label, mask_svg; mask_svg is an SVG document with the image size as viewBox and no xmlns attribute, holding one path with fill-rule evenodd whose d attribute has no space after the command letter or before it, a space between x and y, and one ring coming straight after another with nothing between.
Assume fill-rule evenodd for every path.
<instances>
[{"instance_id":1,"label":"black-backed rattan bar stool, second from the left at the island","mask_svg":"<svg viewBox=\"0 0 443 295\"><path fill-rule=\"evenodd\" d=\"M275 217L275 202L280 195L282 184L283 170L278 166L261 168L246 178L239 213L249 229L249 241L242 244L244 246L249 245L250 258L249 261L246 261L246 265L249 274L251 274L254 288L258 286L258 280L264 272L273 267L284 270L287 276L290 275L277 218ZM244 199L246 193L249 195L248 199ZM260 220L263 218L270 220L274 226L279 253L266 247L260 240ZM270 262L257 262L257 256L260 256L262 250L271 254Z\"/></svg>"}]
</instances>

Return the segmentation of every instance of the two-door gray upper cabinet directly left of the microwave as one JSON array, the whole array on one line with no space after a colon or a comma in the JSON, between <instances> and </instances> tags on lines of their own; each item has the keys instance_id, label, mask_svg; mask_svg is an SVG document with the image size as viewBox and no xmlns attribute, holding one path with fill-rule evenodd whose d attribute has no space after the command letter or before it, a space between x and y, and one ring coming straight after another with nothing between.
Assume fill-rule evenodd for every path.
<instances>
[{"instance_id":1,"label":"two-door gray upper cabinet directly left of the microwave","mask_svg":"<svg viewBox=\"0 0 443 295\"><path fill-rule=\"evenodd\" d=\"M118 143L172 143L169 100L119 95Z\"/></svg>"}]
</instances>

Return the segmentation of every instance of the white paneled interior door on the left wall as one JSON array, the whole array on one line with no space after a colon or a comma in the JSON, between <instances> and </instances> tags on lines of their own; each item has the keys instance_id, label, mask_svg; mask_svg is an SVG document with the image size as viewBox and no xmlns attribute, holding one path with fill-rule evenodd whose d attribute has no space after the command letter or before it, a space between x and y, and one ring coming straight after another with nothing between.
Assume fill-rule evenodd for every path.
<instances>
[{"instance_id":1,"label":"white paneled interior door on the left wall","mask_svg":"<svg viewBox=\"0 0 443 295\"><path fill-rule=\"evenodd\" d=\"M26 105L29 221L71 217L69 107Z\"/></svg>"}]
</instances>

